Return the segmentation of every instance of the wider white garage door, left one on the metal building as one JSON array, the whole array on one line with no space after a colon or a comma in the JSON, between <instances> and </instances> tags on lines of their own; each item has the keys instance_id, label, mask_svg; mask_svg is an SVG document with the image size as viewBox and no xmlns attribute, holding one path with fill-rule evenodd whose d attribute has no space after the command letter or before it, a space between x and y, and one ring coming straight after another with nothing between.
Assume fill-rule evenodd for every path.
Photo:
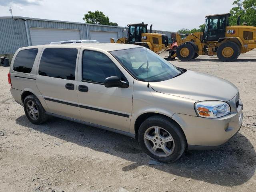
<instances>
[{"instance_id":1,"label":"wider white garage door, left one on the metal building","mask_svg":"<svg viewBox=\"0 0 256 192\"><path fill-rule=\"evenodd\" d=\"M44 45L55 41L80 39L80 30L30 28L30 37L32 45Z\"/></svg>"}]
</instances>

